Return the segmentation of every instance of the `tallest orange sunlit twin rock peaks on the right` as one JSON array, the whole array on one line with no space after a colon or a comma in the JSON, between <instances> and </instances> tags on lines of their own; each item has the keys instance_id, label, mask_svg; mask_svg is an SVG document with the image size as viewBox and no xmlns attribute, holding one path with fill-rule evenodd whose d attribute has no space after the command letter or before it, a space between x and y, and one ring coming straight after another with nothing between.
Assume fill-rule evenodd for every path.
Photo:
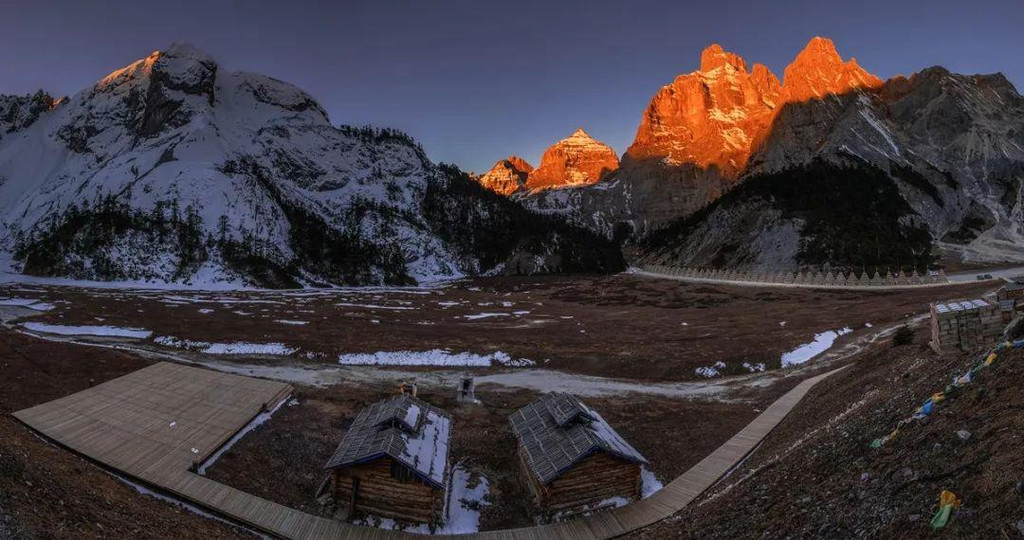
<instances>
[{"instance_id":1,"label":"tallest orange sunlit twin rock peaks on the right","mask_svg":"<svg viewBox=\"0 0 1024 540\"><path fill-rule=\"evenodd\" d=\"M804 47L781 84L766 66L748 72L743 58L713 44L700 53L698 71L654 95L626 155L631 164L692 165L735 177L786 102L881 86L855 59L843 61L826 38Z\"/></svg>"}]
</instances>

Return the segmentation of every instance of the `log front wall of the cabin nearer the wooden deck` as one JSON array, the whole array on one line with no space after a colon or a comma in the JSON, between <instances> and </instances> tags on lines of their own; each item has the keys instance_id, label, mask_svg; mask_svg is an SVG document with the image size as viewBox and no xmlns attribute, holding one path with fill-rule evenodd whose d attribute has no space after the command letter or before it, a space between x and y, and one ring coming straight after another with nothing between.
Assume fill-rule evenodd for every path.
<instances>
[{"instance_id":1,"label":"log front wall of the cabin nearer the wooden deck","mask_svg":"<svg viewBox=\"0 0 1024 540\"><path fill-rule=\"evenodd\" d=\"M391 475L391 458L382 457L334 471L335 501L347 506L352 481L359 480L355 510L401 522L436 523L443 510L444 493L422 481L400 482Z\"/></svg>"}]
</instances>

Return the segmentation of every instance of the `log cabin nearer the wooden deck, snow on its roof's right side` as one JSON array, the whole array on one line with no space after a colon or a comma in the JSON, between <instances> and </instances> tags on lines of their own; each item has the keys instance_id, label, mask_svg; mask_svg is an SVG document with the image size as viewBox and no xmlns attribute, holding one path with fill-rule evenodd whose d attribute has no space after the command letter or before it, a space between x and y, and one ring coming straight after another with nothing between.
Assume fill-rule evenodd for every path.
<instances>
[{"instance_id":1,"label":"log cabin nearer the wooden deck, snow on its roof's right side","mask_svg":"<svg viewBox=\"0 0 1024 540\"><path fill-rule=\"evenodd\" d=\"M359 412L325 465L335 503L403 523L440 522L447 496L452 416L409 394Z\"/></svg>"}]
</instances>

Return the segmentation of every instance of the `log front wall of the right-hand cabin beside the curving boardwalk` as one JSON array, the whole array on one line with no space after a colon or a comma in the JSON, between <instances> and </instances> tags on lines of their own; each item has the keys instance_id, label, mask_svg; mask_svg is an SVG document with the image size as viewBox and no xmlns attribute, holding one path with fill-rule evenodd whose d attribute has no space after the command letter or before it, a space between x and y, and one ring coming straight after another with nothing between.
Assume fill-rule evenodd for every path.
<instances>
[{"instance_id":1,"label":"log front wall of the right-hand cabin beside the curving boardwalk","mask_svg":"<svg viewBox=\"0 0 1024 540\"><path fill-rule=\"evenodd\" d=\"M551 510L593 505L612 497L638 499L640 490L640 464L603 452L582 460L546 486L538 486L541 505Z\"/></svg>"}]
</instances>

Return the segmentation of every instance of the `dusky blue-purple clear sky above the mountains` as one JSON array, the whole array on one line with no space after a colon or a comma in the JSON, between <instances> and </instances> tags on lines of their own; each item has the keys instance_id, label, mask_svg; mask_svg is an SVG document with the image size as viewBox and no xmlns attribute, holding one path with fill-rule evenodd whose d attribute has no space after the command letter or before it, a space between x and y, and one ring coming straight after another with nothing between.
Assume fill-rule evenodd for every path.
<instances>
[{"instance_id":1,"label":"dusky blue-purple clear sky above the mountains","mask_svg":"<svg viewBox=\"0 0 1024 540\"><path fill-rule=\"evenodd\" d=\"M782 70L813 36L882 78L930 66L1024 88L1022 0L0 0L0 93L70 95L174 41L312 94L434 161L537 166L579 127L626 151L651 96L719 43Z\"/></svg>"}]
</instances>

